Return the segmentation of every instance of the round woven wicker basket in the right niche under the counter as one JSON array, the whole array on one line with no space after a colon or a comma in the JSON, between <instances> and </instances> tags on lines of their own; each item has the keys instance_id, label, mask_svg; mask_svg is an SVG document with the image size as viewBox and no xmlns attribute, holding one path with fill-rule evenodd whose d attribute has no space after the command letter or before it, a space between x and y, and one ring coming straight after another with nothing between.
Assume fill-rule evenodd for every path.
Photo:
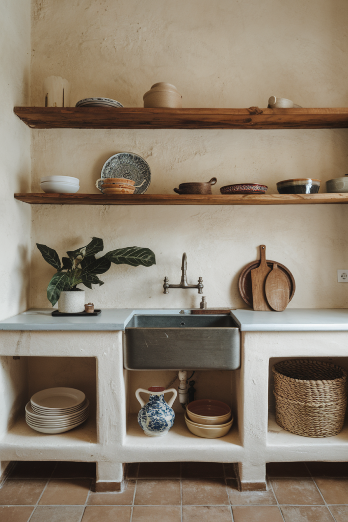
<instances>
[{"instance_id":1,"label":"round woven wicker basket in the right niche under the counter","mask_svg":"<svg viewBox=\"0 0 348 522\"><path fill-rule=\"evenodd\" d=\"M347 372L322 361L291 360L274 364L275 420L305 437L332 437L343 428Z\"/></svg>"}]
</instances>

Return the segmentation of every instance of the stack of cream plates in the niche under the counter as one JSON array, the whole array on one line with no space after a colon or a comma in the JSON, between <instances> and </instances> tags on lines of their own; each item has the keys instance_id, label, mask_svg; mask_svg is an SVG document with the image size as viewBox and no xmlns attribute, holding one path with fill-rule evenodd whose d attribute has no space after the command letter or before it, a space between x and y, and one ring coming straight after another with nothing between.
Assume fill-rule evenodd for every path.
<instances>
[{"instance_id":1,"label":"stack of cream plates in the niche under the counter","mask_svg":"<svg viewBox=\"0 0 348 522\"><path fill-rule=\"evenodd\" d=\"M35 393L26 406L26 422L41 433L63 433L85 422L89 400L75 388L47 388Z\"/></svg>"}]
</instances>

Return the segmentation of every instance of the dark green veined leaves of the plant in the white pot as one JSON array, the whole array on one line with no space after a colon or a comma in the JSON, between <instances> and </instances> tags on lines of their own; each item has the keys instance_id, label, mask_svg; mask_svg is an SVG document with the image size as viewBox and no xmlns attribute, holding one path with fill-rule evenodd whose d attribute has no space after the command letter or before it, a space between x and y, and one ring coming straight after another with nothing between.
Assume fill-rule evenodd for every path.
<instances>
[{"instance_id":1,"label":"dark green veined leaves of the plant in the white pot","mask_svg":"<svg viewBox=\"0 0 348 522\"><path fill-rule=\"evenodd\" d=\"M98 276L109 270L111 263L131 266L156 264L152 250L139 246L116 248L102 257L95 258L95 254L104 249L103 240L100 238L92 238L88 245L67 252L68 257L62 257L62 263L53 248L39 243L37 243L37 247L44 260L57 270L47 287L47 298L52 306L58 301L61 292L80 290L77 288L79 283L83 283L90 289L92 284L99 284L99 286L104 284Z\"/></svg>"}]
</instances>

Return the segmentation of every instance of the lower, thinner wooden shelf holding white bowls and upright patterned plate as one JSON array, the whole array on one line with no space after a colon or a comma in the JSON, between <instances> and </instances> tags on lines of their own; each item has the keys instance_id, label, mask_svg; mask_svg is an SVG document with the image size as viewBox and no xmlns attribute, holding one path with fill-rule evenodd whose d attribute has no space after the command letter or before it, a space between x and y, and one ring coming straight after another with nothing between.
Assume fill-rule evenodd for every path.
<instances>
[{"instance_id":1,"label":"lower, thinner wooden shelf holding white bowls and upright patterned plate","mask_svg":"<svg viewBox=\"0 0 348 522\"><path fill-rule=\"evenodd\" d=\"M31 205L316 205L348 203L346 194L15 194Z\"/></svg>"}]
</instances>

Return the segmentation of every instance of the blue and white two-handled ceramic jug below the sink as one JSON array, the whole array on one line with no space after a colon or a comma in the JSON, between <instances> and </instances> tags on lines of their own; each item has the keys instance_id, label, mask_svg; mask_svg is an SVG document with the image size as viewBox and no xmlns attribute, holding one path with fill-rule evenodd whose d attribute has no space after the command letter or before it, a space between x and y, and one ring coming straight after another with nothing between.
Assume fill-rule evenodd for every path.
<instances>
[{"instance_id":1,"label":"blue and white two-handled ceramic jug below the sink","mask_svg":"<svg viewBox=\"0 0 348 522\"><path fill-rule=\"evenodd\" d=\"M140 397L140 392L150 393L150 399L147 404ZM164 400L164 394L173 392L173 397L168 404ZM138 413L138 423L140 428L144 430L149 437L161 437L172 428L175 419L175 413L172 405L177 396L175 388L166 390L161 386L151 386L145 390L138 388L135 396L140 402L141 410Z\"/></svg>"}]
</instances>

